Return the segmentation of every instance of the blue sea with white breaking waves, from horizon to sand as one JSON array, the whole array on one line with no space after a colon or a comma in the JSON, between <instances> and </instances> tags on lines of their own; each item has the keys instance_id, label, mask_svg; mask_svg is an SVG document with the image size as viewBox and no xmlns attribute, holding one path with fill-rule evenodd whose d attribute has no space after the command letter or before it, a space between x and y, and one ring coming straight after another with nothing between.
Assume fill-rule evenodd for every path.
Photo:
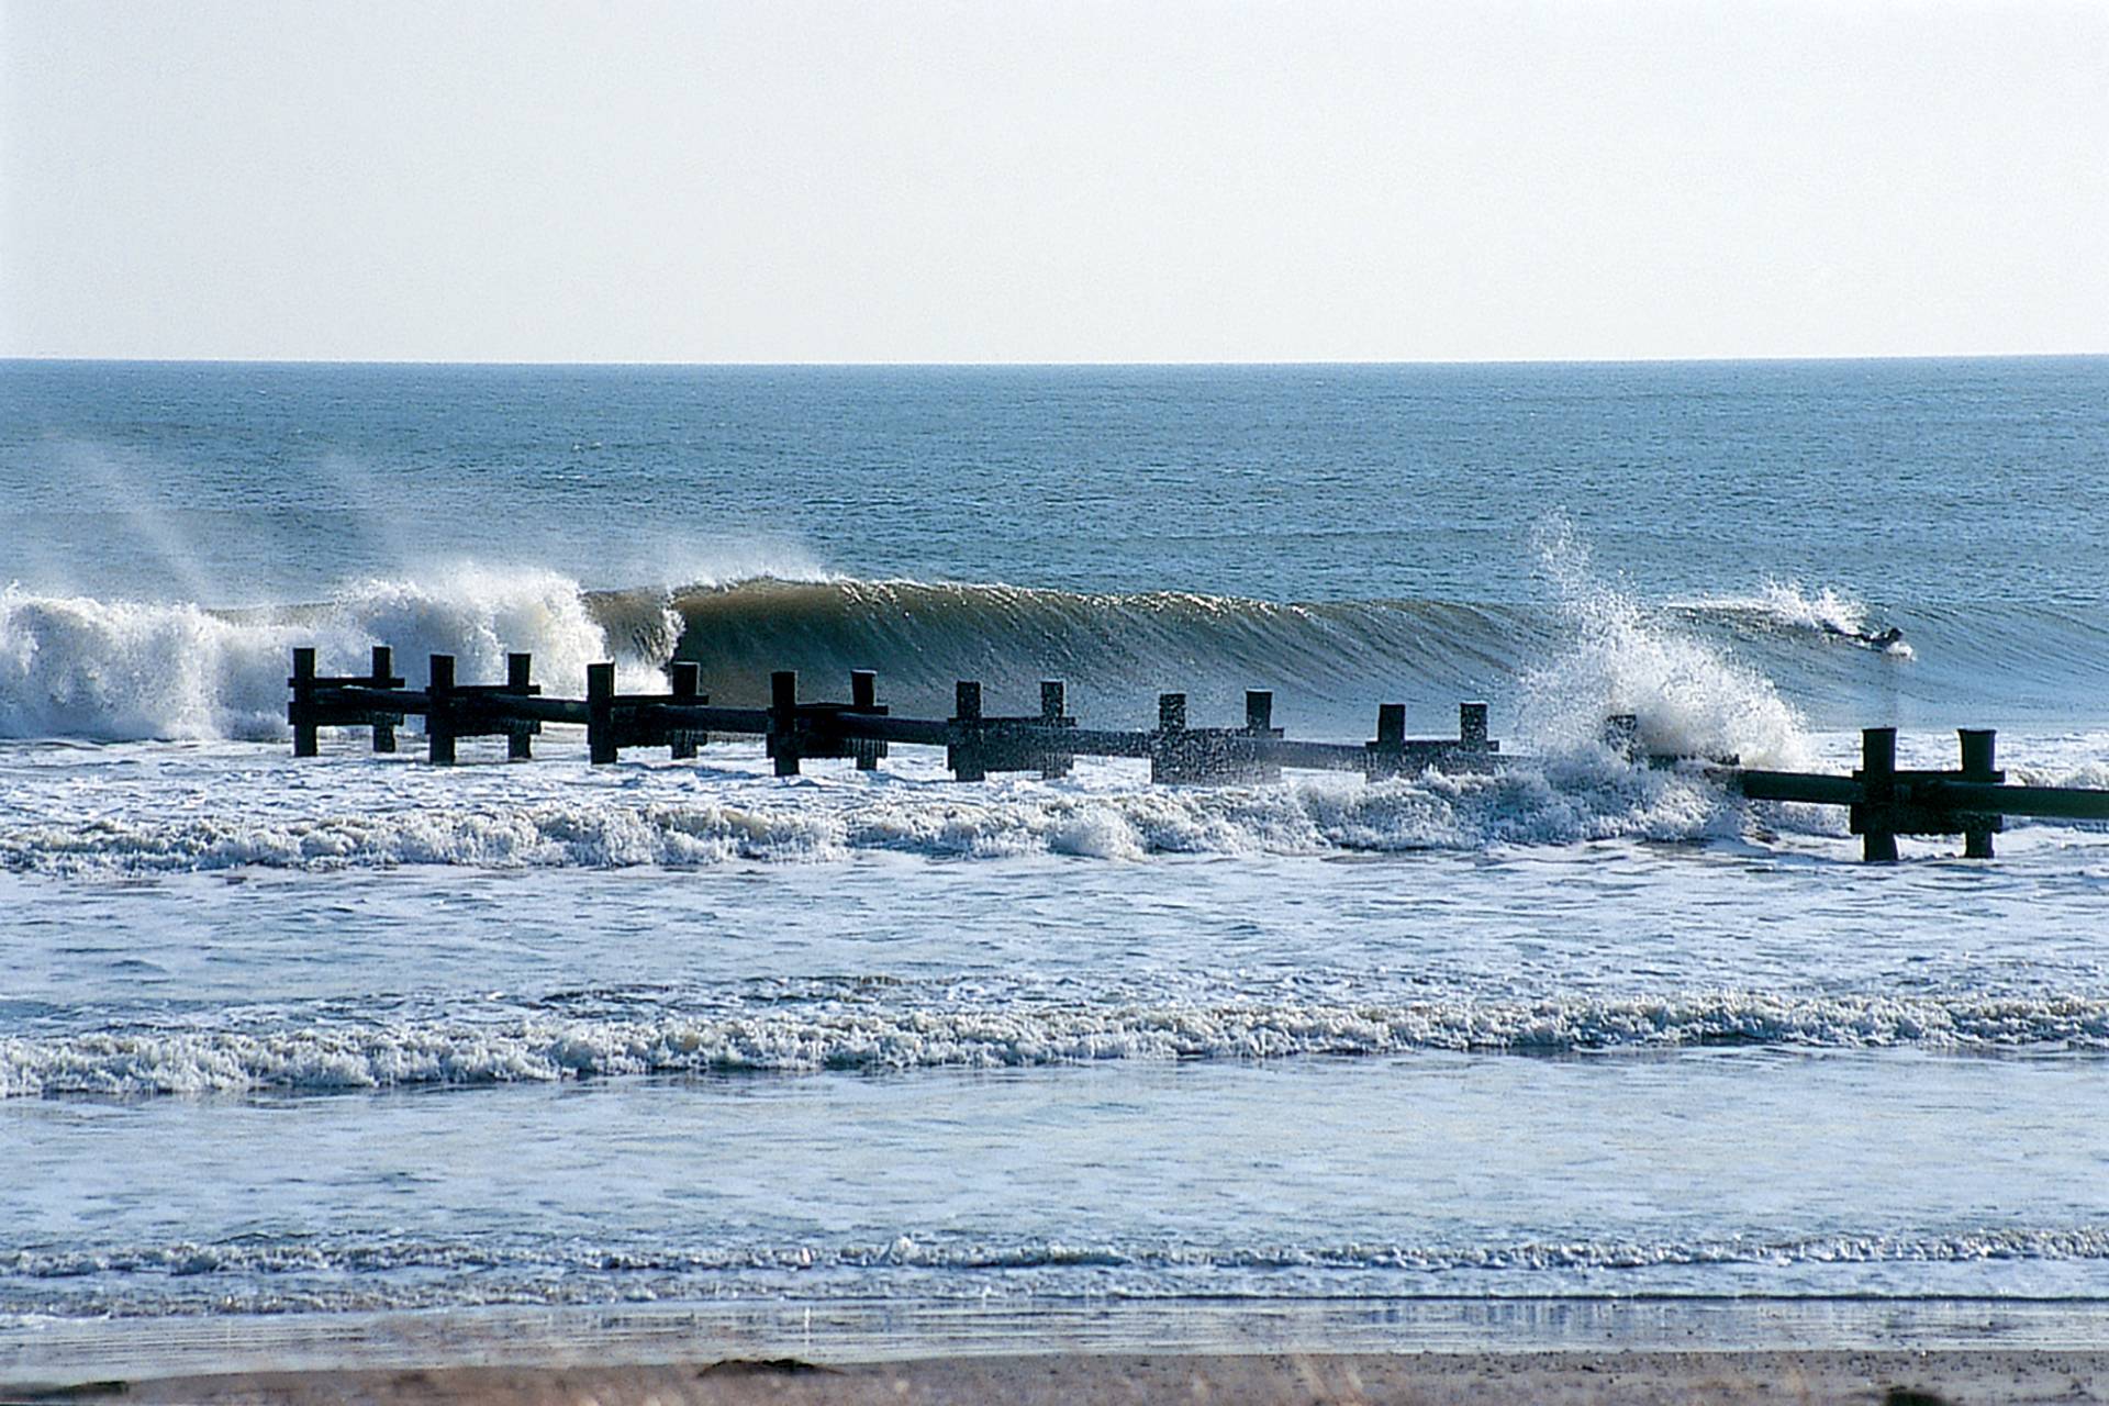
<instances>
[{"instance_id":1,"label":"blue sea with white breaking waves, from horizon to sand","mask_svg":"<svg viewBox=\"0 0 2109 1406\"><path fill-rule=\"evenodd\" d=\"M1862 866L1599 727L2105 786L2105 561L2109 358L0 363L0 1368L428 1309L2098 1324L2109 833ZM293 759L289 651L373 643L1485 700L1512 763Z\"/></svg>"}]
</instances>

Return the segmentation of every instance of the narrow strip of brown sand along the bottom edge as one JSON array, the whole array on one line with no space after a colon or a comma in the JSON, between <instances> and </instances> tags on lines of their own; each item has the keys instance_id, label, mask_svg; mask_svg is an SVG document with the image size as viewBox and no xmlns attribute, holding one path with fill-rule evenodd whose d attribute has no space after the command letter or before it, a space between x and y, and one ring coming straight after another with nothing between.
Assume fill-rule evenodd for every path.
<instances>
[{"instance_id":1,"label":"narrow strip of brown sand along the bottom edge","mask_svg":"<svg viewBox=\"0 0 2109 1406\"><path fill-rule=\"evenodd\" d=\"M1048 1353L820 1366L456 1366L70 1383L89 1402L593 1402L597 1406L1215 1402L2103 1402L2109 1351ZM49 1398L46 1398L49 1400Z\"/></svg>"}]
</instances>

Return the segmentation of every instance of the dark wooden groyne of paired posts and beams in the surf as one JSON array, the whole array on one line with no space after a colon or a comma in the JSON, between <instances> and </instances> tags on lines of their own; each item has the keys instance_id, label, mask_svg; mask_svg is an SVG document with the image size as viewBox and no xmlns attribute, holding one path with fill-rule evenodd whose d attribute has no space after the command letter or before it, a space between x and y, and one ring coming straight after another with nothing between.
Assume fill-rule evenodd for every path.
<instances>
[{"instance_id":1,"label":"dark wooden groyne of paired posts and beams in the surf","mask_svg":"<svg viewBox=\"0 0 2109 1406\"><path fill-rule=\"evenodd\" d=\"M795 672L770 675L770 706L725 708L700 689L700 670L675 662L664 694L618 694L616 666L586 666L584 698L544 698L534 683L534 660L506 656L506 681L460 685L453 656L434 653L426 687L411 689L394 672L394 653L373 647L365 675L316 675L314 649L293 651L293 755L316 755L318 727L371 727L373 750L396 750L405 717L424 717L426 755L451 765L460 738L506 738L515 759L531 757L544 723L586 729L595 765L620 761L624 748L660 748L696 757L717 736L761 738L776 776L797 776L804 761L852 759L875 769L894 742L943 746L945 767L962 782L995 772L1067 776L1078 757L1137 757L1149 761L1152 782L1251 784L1280 780L1284 769L1360 772L1369 780L1415 776L1428 767L1489 772L1504 761L1502 744L1487 736L1487 704L1457 706L1455 738L1409 738L1405 704L1377 708L1377 736L1369 742L1301 742L1274 727L1274 694L1244 696L1242 727L1189 727L1185 694L1158 696L1158 725L1147 731L1080 727L1067 712L1067 687L1040 685L1040 712L995 717L983 710L981 683L964 679L945 719L894 717L877 700L873 670L850 672L850 698L801 702ZM1639 755L1634 719L1607 721L1609 744ZM2010 786L1995 765L1997 738L1989 729L1961 729L1961 757L1953 772L1907 772L1896 765L1896 729L1862 731L1860 767L1850 776L1765 772L1734 761L1649 757L1658 765L1694 763L1723 786L1753 801L1843 805L1850 828L1862 839L1862 858L1894 862L1898 835L1961 835L1968 858L1991 858L1993 835L2006 816L2044 820L2109 820L2109 790L2075 786Z\"/></svg>"}]
</instances>

